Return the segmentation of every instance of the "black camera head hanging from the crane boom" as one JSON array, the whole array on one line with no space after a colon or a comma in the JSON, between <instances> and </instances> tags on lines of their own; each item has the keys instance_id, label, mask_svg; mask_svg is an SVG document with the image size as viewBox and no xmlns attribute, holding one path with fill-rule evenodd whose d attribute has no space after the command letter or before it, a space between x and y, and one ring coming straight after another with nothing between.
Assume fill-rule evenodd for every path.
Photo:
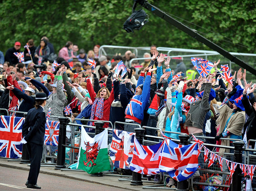
<instances>
[{"instance_id":1,"label":"black camera head hanging from the crane boom","mask_svg":"<svg viewBox=\"0 0 256 191\"><path fill-rule=\"evenodd\" d=\"M123 29L126 32L132 32L137 29L140 30L144 24L148 22L148 18L146 19L147 14L144 10L140 9L138 11L133 10L133 13L123 24Z\"/></svg>"}]
</instances>

